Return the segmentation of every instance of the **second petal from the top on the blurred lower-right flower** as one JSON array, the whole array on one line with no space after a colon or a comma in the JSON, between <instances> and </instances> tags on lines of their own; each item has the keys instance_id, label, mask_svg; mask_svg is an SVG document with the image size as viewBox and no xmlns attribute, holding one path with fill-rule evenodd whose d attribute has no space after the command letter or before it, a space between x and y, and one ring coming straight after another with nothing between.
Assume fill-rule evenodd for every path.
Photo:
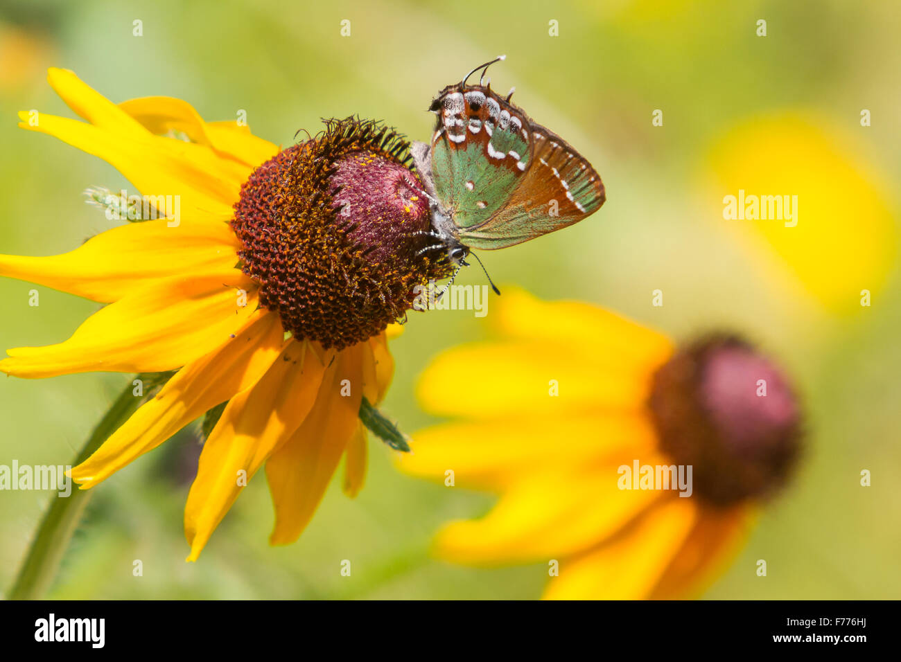
<instances>
[{"instance_id":1,"label":"second petal from the top on the blurred lower-right flower","mask_svg":"<svg viewBox=\"0 0 901 662\"><path fill-rule=\"evenodd\" d=\"M461 345L432 360L416 395L431 413L479 419L641 407L651 372L618 364L604 345L592 352L540 340Z\"/></svg>"}]
</instances>

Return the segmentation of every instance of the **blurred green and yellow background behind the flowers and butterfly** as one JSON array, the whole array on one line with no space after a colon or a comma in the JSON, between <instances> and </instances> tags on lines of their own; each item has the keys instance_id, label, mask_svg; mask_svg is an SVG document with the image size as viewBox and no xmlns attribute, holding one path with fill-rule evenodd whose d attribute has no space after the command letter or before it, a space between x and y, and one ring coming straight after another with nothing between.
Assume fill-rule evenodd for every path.
<instances>
[{"instance_id":1,"label":"blurred green and yellow background behind the flowers and butterfly","mask_svg":"<svg viewBox=\"0 0 901 662\"><path fill-rule=\"evenodd\" d=\"M432 96L506 53L492 68L494 86L516 86L514 103L593 162L609 199L587 222L483 253L501 288L609 306L677 339L742 331L789 367L805 395L810 436L796 480L706 596L898 598L899 14L895 3L878 1L3 0L0 252L73 249L109 227L83 204L82 191L125 186L100 160L16 128L20 110L72 116L46 84L49 66L75 70L114 101L181 97L208 120L244 109L255 133L287 145L296 130L315 133L320 118L351 113L427 140ZM136 19L142 37L132 36ZM350 20L350 37L341 37L342 19ZM759 19L766 37L756 34ZM549 35L551 20L557 37ZM651 124L655 109L663 126ZM860 125L862 109L871 113L868 127ZM809 129L808 138L794 144L764 131L770 142L761 143L754 127L778 127L785 117L794 118L787 126ZM762 154L748 154L755 149ZM781 168L776 179L770 163ZM756 182L778 190L754 191ZM740 186L800 191L796 230L813 234L724 221L722 198ZM473 268L458 282L484 277ZM860 306L864 288L869 307ZM97 307L46 288L40 306L30 307L30 289L0 280L0 348L64 340ZM664 293L662 307L651 305L655 289ZM415 403L417 374L438 350L486 337L490 315L490 304L484 319L411 313L393 342L396 376L384 405L405 431L433 422ZM131 378L0 378L0 464L68 463ZM549 449L558 442L548 440ZM51 596L541 593L543 564L487 570L429 558L442 521L477 516L492 499L398 474L377 440L359 497L345 498L334 480L295 545L268 547L272 506L258 476L200 561L187 564L182 509L198 452L195 434L183 432L97 489ZM864 468L870 487L859 483ZM0 493L0 591L49 498ZM345 558L350 577L340 574ZM755 575L758 558L768 559L769 576ZM143 562L141 577L132 576L134 559Z\"/></svg>"}]
</instances>

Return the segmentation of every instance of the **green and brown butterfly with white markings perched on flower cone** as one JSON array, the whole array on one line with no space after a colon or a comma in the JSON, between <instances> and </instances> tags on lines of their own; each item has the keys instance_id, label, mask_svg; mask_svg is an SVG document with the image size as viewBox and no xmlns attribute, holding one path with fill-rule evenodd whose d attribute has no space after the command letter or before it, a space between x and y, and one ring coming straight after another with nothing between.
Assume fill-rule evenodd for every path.
<instances>
[{"instance_id":1,"label":"green and brown butterfly with white markings perched on flower cone","mask_svg":"<svg viewBox=\"0 0 901 662\"><path fill-rule=\"evenodd\" d=\"M446 250L458 270L470 249L514 246L579 222L600 209L604 184L587 159L559 135L532 122L483 85L474 68L445 87L429 110L437 115L431 144L410 153L430 199L435 240L420 252ZM478 86L467 81L482 71Z\"/></svg>"}]
</instances>

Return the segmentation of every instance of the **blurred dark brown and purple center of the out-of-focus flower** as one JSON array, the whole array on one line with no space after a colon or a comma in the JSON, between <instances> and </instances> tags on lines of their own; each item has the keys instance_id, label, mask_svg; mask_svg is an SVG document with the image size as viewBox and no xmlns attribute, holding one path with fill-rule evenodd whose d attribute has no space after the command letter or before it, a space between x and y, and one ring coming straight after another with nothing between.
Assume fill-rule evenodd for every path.
<instances>
[{"instance_id":1,"label":"blurred dark brown and purple center of the out-of-focus flower","mask_svg":"<svg viewBox=\"0 0 901 662\"><path fill-rule=\"evenodd\" d=\"M781 371L733 337L700 340L654 376L662 449L690 465L694 489L728 506L783 485L800 446L800 411Z\"/></svg>"}]
</instances>

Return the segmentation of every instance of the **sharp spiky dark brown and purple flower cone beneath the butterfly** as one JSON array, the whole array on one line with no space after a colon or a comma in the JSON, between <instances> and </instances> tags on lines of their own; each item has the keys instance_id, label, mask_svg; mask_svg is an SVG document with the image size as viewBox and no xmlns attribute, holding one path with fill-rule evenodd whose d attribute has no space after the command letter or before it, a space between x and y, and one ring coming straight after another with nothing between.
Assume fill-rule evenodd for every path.
<instances>
[{"instance_id":1,"label":"sharp spiky dark brown and purple flower cone beneath the butterfly","mask_svg":"<svg viewBox=\"0 0 901 662\"><path fill-rule=\"evenodd\" d=\"M409 145L377 122L330 120L257 168L235 204L241 268L286 331L342 349L412 307L414 287L450 274L419 254L429 203Z\"/></svg>"}]
</instances>

